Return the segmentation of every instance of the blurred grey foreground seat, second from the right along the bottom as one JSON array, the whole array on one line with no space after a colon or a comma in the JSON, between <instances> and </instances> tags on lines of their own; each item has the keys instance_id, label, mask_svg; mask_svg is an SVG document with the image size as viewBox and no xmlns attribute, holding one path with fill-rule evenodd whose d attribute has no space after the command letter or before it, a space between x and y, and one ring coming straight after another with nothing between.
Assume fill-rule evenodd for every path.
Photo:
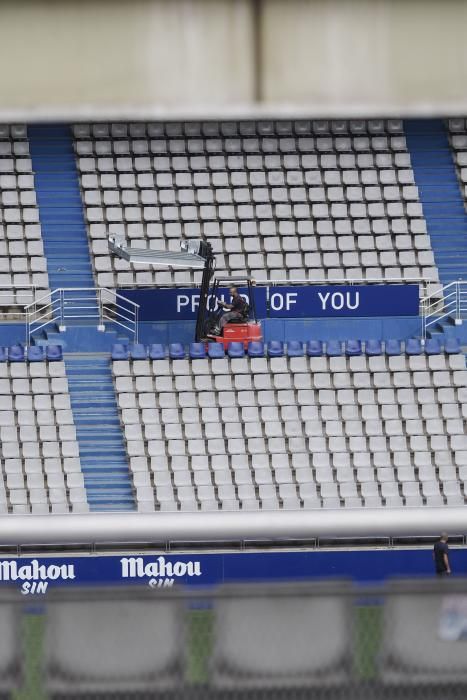
<instances>
[{"instance_id":1,"label":"blurred grey foreground seat, second from the right along the bottom","mask_svg":"<svg viewBox=\"0 0 467 700\"><path fill-rule=\"evenodd\" d=\"M283 599L281 605L277 605L274 598L260 598L252 593L248 598L224 597L219 599L215 611L216 645L213 664L213 685L219 690L228 690L241 687L243 690L258 687L258 683L264 688L273 689L280 685L281 688L296 687L297 675L302 678L301 684L305 687L323 683L318 669L325 658L329 674L326 677L326 685L339 686L345 681L346 674L342 672L340 660L346 645L345 616L346 603L341 598L342 605L335 606L336 600L332 596L315 600L313 597L290 597ZM313 601L313 602L312 602ZM240 604L241 603L241 604ZM246 607L245 607L246 605ZM322 644L304 644L300 646L302 652L297 656L297 646L291 644L292 639L306 639L310 630L320 627L321 620L327 618L327 634ZM245 620L251 623L254 620L254 634L251 630L245 634ZM297 627L298 625L298 627ZM250 624L248 625L250 627ZM274 630L293 630L283 635L289 640L288 645L277 642L267 643L267 653L261 654L258 650L265 649L264 640L273 640ZM303 630L308 632L303 637ZM344 630L344 637L342 637ZM290 637L292 634L292 637ZM315 635L313 635L315 639ZM258 640L263 642L258 645ZM286 651L288 646L289 651ZM232 649L235 649L232 658ZM291 653L291 649L294 649ZM230 650L230 651L229 651ZM274 650L272 653L271 650ZM272 653L272 655L271 655ZM228 666L225 658L230 659ZM248 676L241 673L241 669L247 664L251 669ZM303 669L303 671L302 671ZM240 679L240 686L239 686Z\"/></svg>"}]
</instances>

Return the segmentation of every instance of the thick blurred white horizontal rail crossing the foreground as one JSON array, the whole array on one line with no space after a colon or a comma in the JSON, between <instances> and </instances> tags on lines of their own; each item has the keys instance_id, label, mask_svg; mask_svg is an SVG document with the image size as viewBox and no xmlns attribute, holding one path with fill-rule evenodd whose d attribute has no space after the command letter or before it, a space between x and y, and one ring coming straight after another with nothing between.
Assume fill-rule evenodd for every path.
<instances>
[{"instance_id":1,"label":"thick blurred white horizontal rail crossing the foreground","mask_svg":"<svg viewBox=\"0 0 467 700\"><path fill-rule=\"evenodd\" d=\"M215 543L278 539L438 536L467 533L467 508L316 508L179 513L5 515L0 545L141 542Z\"/></svg>"}]
</instances>

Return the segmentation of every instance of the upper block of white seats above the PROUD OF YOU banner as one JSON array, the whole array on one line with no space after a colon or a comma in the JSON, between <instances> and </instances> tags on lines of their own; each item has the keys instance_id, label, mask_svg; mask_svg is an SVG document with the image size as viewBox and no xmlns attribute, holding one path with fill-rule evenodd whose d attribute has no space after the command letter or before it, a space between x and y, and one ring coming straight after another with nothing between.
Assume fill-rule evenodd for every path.
<instances>
[{"instance_id":1,"label":"upper block of white seats above the PROUD OF YOU banner","mask_svg":"<svg viewBox=\"0 0 467 700\"><path fill-rule=\"evenodd\" d=\"M134 246L212 244L217 270L258 281L439 282L400 120L77 124L100 286L190 285L132 269Z\"/></svg>"}]
</instances>

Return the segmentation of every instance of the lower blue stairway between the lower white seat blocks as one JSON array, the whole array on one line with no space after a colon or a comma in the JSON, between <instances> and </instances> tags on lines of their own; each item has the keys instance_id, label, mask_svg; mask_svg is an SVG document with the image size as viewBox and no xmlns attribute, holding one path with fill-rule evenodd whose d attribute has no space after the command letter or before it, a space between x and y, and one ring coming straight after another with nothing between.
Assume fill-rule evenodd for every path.
<instances>
[{"instance_id":1,"label":"lower blue stairway between the lower white seat blocks","mask_svg":"<svg viewBox=\"0 0 467 700\"><path fill-rule=\"evenodd\" d=\"M110 358L107 354L68 353L65 366L90 508L134 510Z\"/></svg>"}]
</instances>

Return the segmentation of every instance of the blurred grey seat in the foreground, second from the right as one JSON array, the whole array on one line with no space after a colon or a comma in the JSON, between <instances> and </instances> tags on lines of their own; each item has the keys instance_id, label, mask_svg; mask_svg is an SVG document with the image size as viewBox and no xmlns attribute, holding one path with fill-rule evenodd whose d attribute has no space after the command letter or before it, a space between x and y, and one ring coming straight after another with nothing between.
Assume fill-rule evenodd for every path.
<instances>
[{"instance_id":1,"label":"blurred grey seat in the foreground, second from the right","mask_svg":"<svg viewBox=\"0 0 467 700\"><path fill-rule=\"evenodd\" d=\"M237 590L239 590L237 588ZM212 685L222 691L342 687L349 678L345 596L313 597L311 587L274 598L274 586L216 600ZM324 672L323 672L323 669Z\"/></svg>"}]
</instances>

